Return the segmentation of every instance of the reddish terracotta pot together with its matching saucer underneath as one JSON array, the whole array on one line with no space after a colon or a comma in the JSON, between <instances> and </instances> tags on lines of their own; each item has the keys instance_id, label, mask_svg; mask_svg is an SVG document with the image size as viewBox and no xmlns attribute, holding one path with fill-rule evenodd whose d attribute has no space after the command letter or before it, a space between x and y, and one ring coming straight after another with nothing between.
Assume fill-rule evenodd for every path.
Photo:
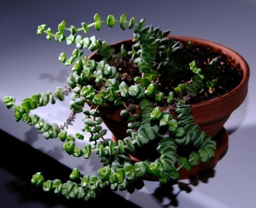
<instances>
[{"instance_id":1,"label":"reddish terracotta pot together with its matching saucer underneath","mask_svg":"<svg viewBox=\"0 0 256 208\"><path fill-rule=\"evenodd\" d=\"M241 66L243 71L243 77L241 83L228 92L227 94L192 105L192 116L194 116L195 123L200 126L200 129L206 131L208 135L212 136L217 141L217 152L215 157L211 158L209 163L200 163L199 166L193 167L191 171L186 171L181 169L179 171L180 179L187 179L190 176L199 176L213 167L218 162L221 155L223 155L228 148L228 134L223 128L223 125L228 120L228 117L237 109L245 99L248 91L248 80L249 80L249 66L246 61L242 58L241 55L237 54L233 50L206 40L201 40L197 38L190 37L180 37L180 36L169 36L169 38L175 38L176 40L187 42L191 41L192 44L210 46L215 51L221 51L223 54L229 56L231 59L235 60L237 64ZM116 50L120 49L121 44L125 44L127 47L132 45L131 40L121 41L112 44ZM89 58L98 59L96 53L89 56ZM110 103L107 104L107 108L101 108L100 113L101 117L107 125L107 127L113 133L113 140L124 139L128 135L126 134L127 127L127 118L122 118L120 116L120 111L123 108L118 108ZM139 107L136 107L136 113L140 113ZM223 129L222 129L223 128ZM222 129L222 130L221 130ZM135 155L130 155L131 159L134 162L143 161L144 159L149 159L154 161L159 157L159 153L156 151L158 141L151 141L148 144L144 145L143 148L140 148ZM193 150L197 151L196 148L191 145L179 146L177 153L180 156L187 157L189 153ZM156 180L154 178L149 178L149 180Z\"/></svg>"}]
</instances>

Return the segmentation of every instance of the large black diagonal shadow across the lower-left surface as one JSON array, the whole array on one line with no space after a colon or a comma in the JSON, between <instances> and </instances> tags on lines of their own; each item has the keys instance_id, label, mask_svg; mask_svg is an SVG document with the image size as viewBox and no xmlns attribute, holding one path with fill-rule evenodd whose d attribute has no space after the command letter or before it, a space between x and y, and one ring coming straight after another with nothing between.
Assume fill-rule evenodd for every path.
<instances>
[{"instance_id":1,"label":"large black diagonal shadow across the lower-left surface","mask_svg":"<svg viewBox=\"0 0 256 208\"><path fill-rule=\"evenodd\" d=\"M2 186L0 187L0 199L1 206L4 208L73 208L102 205L111 207L121 205L122 208L137 207L111 191L105 191L99 198L89 202L68 200L52 192L43 192L42 187L30 184L33 174L41 171L45 179L58 178L66 181L69 179L71 169L7 133L0 131L0 134L0 184ZM14 202L15 200L17 202Z\"/></svg>"}]
</instances>

